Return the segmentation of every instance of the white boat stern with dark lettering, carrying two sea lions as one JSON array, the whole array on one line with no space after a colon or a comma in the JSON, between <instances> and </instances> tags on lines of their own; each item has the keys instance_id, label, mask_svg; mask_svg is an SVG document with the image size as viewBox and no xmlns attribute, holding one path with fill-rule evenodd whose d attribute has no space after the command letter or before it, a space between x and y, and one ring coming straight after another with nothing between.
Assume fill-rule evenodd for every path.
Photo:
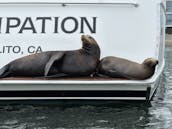
<instances>
[{"instance_id":1,"label":"white boat stern with dark lettering, carrying two sea lions","mask_svg":"<svg viewBox=\"0 0 172 129\"><path fill-rule=\"evenodd\" d=\"M146 80L2 78L0 100L150 101L165 65L165 8L164 0L0 0L0 67L32 53L78 49L82 34L97 40L101 58L159 61Z\"/></svg>"}]
</instances>

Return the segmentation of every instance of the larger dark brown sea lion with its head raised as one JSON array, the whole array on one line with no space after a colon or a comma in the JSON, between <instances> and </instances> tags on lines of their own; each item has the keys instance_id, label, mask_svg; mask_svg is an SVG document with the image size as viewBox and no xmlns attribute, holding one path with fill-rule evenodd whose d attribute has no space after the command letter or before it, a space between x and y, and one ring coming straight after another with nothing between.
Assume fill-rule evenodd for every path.
<instances>
[{"instance_id":1,"label":"larger dark brown sea lion with its head raised","mask_svg":"<svg viewBox=\"0 0 172 129\"><path fill-rule=\"evenodd\" d=\"M100 48L96 40L82 35L82 48L71 51L46 51L18 58L0 69L3 77L89 76L97 67Z\"/></svg>"}]
</instances>

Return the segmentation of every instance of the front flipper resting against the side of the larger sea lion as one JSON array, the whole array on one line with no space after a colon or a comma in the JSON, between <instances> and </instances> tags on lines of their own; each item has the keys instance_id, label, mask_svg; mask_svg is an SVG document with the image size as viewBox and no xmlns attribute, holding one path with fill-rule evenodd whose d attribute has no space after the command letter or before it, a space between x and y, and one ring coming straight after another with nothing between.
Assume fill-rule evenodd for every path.
<instances>
[{"instance_id":1,"label":"front flipper resting against the side of the larger sea lion","mask_svg":"<svg viewBox=\"0 0 172 129\"><path fill-rule=\"evenodd\" d=\"M44 76L47 76L51 66L53 65L53 63L57 60L60 60L63 57L64 53L63 52L59 52L55 55L53 55L50 60L47 62L45 69L44 69Z\"/></svg>"}]
</instances>

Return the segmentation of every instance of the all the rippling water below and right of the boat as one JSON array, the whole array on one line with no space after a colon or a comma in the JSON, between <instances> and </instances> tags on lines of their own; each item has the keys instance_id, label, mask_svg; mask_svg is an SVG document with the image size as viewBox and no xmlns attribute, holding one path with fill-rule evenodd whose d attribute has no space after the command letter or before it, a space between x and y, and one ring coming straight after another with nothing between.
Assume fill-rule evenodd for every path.
<instances>
[{"instance_id":1,"label":"all the rippling water below and right of the boat","mask_svg":"<svg viewBox=\"0 0 172 129\"><path fill-rule=\"evenodd\" d=\"M150 104L71 103L1 103L0 129L172 129L172 47L166 48L166 67Z\"/></svg>"}]
</instances>

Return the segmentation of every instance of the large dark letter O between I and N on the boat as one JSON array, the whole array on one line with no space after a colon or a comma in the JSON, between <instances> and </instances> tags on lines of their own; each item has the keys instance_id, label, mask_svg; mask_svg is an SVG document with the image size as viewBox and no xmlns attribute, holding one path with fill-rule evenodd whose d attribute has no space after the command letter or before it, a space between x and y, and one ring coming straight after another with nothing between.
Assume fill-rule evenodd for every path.
<instances>
[{"instance_id":1,"label":"large dark letter O between I and N on the boat","mask_svg":"<svg viewBox=\"0 0 172 129\"><path fill-rule=\"evenodd\" d=\"M67 20L72 20L74 22L74 27L73 27L72 30L66 30L65 23L66 23ZM74 17L66 17L66 18L64 18L62 23L61 23L61 29L65 33L74 33L78 29L78 21L77 21L77 19L74 18Z\"/></svg>"}]
</instances>

